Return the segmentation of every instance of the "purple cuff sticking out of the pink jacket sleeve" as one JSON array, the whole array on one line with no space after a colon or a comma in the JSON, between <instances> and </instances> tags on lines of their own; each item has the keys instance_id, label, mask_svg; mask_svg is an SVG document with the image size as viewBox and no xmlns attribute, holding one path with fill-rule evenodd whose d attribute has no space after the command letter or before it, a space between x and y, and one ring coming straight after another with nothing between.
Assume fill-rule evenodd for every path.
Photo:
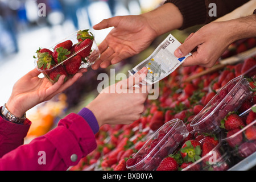
<instances>
[{"instance_id":1,"label":"purple cuff sticking out of the pink jacket sleeve","mask_svg":"<svg viewBox=\"0 0 256 182\"><path fill-rule=\"evenodd\" d=\"M100 129L100 127L98 126L98 121L94 116L94 114L92 113L92 111L84 107L77 114L85 119L85 121L89 124L90 128L93 130L94 134L98 133L98 130Z\"/></svg>"}]
</instances>

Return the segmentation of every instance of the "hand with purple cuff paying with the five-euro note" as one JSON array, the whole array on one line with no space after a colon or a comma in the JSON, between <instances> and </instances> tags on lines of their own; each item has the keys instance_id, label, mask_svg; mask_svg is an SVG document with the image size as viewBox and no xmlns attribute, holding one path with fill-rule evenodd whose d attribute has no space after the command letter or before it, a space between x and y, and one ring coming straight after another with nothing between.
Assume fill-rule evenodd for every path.
<instances>
[{"instance_id":1,"label":"hand with purple cuff paying with the five-euro note","mask_svg":"<svg viewBox=\"0 0 256 182\"><path fill-rule=\"evenodd\" d=\"M147 68L144 67L126 80L110 85L86 106L95 115L99 126L127 125L141 117L148 95L147 86L142 85L138 88L134 85L141 82L146 77L146 73Z\"/></svg>"}]
</instances>

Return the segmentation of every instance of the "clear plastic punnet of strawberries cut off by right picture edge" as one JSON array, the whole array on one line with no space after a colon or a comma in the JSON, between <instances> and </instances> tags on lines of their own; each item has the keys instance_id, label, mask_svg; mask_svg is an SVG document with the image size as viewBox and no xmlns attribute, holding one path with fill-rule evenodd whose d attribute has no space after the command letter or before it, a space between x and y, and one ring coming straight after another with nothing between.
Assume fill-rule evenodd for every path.
<instances>
[{"instance_id":1,"label":"clear plastic punnet of strawberries cut off by right picture edge","mask_svg":"<svg viewBox=\"0 0 256 182\"><path fill-rule=\"evenodd\" d=\"M245 120L250 111L251 108L240 114L240 117ZM229 137L224 136L222 142L230 147L234 157L242 160L256 152L256 118L242 129L236 129L235 131Z\"/></svg>"}]
</instances>

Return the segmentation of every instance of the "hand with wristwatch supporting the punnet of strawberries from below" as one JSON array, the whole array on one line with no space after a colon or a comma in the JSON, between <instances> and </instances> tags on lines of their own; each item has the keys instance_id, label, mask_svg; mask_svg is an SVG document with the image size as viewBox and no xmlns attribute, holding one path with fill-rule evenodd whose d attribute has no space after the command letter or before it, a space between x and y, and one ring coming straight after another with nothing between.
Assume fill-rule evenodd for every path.
<instances>
[{"instance_id":1,"label":"hand with wristwatch supporting the punnet of strawberries from below","mask_svg":"<svg viewBox=\"0 0 256 182\"><path fill-rule=\"evenodd\" d=\"M41 102L50 100L56 94L63 92L82 76L82 72L86 71L86 69L82 69L81 72L76 73L75 76L64 84L65 76L62 75L59 80L52 85L46 78L39 78L38 75L41 72L35 68L14 84L13 92L6 106L16 117L22 117L28 109L31 109Z\"/></svg>"}]
</instances>

